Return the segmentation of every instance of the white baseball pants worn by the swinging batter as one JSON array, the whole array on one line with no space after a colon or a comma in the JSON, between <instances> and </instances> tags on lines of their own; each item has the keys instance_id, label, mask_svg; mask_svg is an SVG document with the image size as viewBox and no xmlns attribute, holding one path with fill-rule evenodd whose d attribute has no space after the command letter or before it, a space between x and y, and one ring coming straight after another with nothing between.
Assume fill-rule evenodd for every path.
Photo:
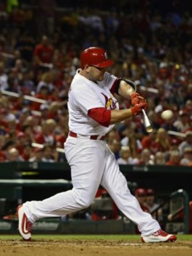
<instances>
[{"instance_id":1,"label":"white baseball pants worn by the swinging batter","mask_svg":"<svg viewBox=\"0 0 192 256\"><path fill-rule=\"evenodd\" d=\"M101 184L125 216L138 225L143 236L160 229L158 222L143 212L130 194L126 178L105 141L68 137L65 152L71 167L73 189L42 201L24 203L24 212L31 222L87 208Z\"/></svg>"}]
</instances>

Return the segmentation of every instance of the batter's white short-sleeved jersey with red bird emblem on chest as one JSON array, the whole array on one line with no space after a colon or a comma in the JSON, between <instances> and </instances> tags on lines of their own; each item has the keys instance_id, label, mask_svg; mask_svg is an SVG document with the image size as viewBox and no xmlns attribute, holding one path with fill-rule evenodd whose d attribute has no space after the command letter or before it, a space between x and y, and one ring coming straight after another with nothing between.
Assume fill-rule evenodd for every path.
<instances>
[{"instance_id":1,"label":"batter's white short-sleeved jersey with red bird emblem on chest","mask_svg":"<svg viewBox=\"0 0 192 256\"><path fill-rule=\"evenodd\" d=\"M92 108L119 109L116 98L110 92L118 78L105 72L104 80L95 83L81 76L79 72L80 69L77 70L69 90L69 129L80 135L104 135L114 124L102 126L87 114Z\"/></svg>"}]
</instances>

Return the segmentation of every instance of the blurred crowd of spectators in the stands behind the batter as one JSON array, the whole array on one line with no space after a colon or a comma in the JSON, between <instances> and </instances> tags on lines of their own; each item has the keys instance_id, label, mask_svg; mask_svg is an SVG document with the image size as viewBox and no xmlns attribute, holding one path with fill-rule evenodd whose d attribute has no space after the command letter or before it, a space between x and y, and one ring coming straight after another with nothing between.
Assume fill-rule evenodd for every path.
<instances>
[{"instance_id":1,"label":"blurred crowd of spectators in the stands behind the batter","mask_svg":"<svg viewBox=\"0 0 192 256\"><path fill-rule=\"evenodd\" d=\"M0 2L0 162L66 161L68 90L80 52L98 46L116 63L109 72L136 83L154 126L147 134L136 116L109 132L118 163L192 166L190 1L168 0L166 10L130 1L108 11L64 2ZM117 98L120 109L130 107ZM170 120L161 116L167 109Z\"/></svg>"}]
</instances>

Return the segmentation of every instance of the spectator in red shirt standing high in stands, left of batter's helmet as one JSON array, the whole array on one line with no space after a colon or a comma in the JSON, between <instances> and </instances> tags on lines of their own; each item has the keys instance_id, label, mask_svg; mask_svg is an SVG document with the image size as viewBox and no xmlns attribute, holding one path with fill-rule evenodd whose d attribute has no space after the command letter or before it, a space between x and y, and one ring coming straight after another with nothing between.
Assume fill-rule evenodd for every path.
<instances>
[{"instance_id":1,"label":"spectator in red shirt standing high in stands, left of batter's helmet","mask_svg":"<svg viewBox=\"0 0 192 256\"><path fill-rule=\"evenodd\" d=\"M53 48L49 44L49 40L47 36L42 36L42 41L40 44L36 45L34 49L34 61L37 66L41 66L43 64L52 63L53 58Z\"/></svg>"}]
</instances>

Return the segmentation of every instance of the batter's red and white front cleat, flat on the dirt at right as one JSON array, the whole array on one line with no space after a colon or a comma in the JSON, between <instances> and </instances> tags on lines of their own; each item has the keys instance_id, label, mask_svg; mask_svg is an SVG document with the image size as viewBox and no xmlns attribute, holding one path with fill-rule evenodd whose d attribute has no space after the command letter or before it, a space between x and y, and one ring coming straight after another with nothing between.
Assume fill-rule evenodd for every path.
<instances>
[{"instance_id":1,"label":"batter's red and white front cleat, flat on the dirt at right","mask_svg":"<svg viewBox=\"0 0 192 256\"><path fill-rule=\"evenodd\" d=\"M158 230L149 236L142 236L142 242L153 243L153 242L175 242L177 237L172 234L168 234L163 230Z\"/></svg>"}]
</instances>

